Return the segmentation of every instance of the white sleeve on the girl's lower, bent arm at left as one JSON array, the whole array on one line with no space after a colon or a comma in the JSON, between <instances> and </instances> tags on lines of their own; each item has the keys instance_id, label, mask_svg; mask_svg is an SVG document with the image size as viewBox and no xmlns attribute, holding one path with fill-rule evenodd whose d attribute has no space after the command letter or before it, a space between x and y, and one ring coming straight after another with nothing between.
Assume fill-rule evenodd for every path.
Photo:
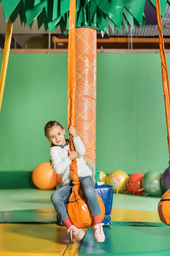
<instances>
[{"instance_id":1,"label":"white sleeve on the girl's lower, bent arm at left","mask_svg":"<svg viewBox=\"0 0 170 256\"><path fill-rule=\"evenodd\" d=\"M62 173L70 166L71 160L68 157L61 160L61 157L55 147L50 148L50 156L54 171L58 175L62 175Z\"/></svg>"}]
</instances>

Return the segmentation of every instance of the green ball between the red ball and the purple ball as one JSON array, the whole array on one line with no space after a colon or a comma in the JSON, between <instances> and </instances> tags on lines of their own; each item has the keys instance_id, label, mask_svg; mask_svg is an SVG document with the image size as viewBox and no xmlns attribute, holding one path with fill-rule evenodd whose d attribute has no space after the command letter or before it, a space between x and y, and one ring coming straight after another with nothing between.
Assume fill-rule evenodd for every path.
<instances>
[{"instance_id":1,"label":"green ball between the red ball and the purple ball","mask_svg":"<svg viewBox=\"0 0 170 256\"><path fill-rule=\"evenodd\" d=\"M147 172L142 179L144 192L153 196L162 195L163 189L161 186L161 177L162 174L158 171Z\"/></svg>"}]
</instances>

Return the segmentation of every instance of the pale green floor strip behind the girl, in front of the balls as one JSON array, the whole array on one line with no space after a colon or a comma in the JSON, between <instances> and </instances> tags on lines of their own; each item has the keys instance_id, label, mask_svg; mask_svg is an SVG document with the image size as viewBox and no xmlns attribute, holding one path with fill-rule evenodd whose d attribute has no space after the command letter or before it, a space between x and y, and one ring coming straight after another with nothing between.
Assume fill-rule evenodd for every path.
<instances>
[{"instance_id":1,"label":"pale green floor strip behind the girl, in front of the balls","mask_svg":"<svg viewBox=\"0 0 170 256\"><path fill-rule=\"evenodd\" d=\"M0 211L24 209L51 209L54 190L1 189ZM130 194L113 194L113 208L136 209L157 212L160 197L144 197Z\"/></svg>"}]
</instances>

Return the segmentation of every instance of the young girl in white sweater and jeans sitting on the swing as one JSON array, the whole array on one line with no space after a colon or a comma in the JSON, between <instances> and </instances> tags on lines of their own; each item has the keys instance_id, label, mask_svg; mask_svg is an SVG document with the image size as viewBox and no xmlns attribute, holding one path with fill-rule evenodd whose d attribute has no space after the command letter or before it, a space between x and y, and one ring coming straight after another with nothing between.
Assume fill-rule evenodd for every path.
<instances>
[{"instance_id":1,"label":"young girl in white sweater and jeans sitting on the swing","mask_svg":"<svg viewBox=\"0 0 170 256\"><path fill-rule=\"evenodd\" d=\"M100 221L100 214L102 212L96 198L92 171L83 159L85 146L78 136L76 129L72 126L68 129L69 134L73 136L75 151L72 152L69 150L69 141L65 140L65 130L62 125L56 121L50 121L45 125L44 130L45 136L51 142L50 156L52 166L54 171L61 177L63 185L62 188L51 195L51 201L54 208L68 228L68 232L71 233L71 238L73 235L77 240L81 240L84 237L85 232L71 223L64 205L64 200L71 194L73 186L70 175L70 164L73 159L76 159L80 187L85 194L91 211L91 216L94 219L94 239L98 242L105 241L105 234L103 233L102 227L103 224Z\"/></svg>"}]
</instances>

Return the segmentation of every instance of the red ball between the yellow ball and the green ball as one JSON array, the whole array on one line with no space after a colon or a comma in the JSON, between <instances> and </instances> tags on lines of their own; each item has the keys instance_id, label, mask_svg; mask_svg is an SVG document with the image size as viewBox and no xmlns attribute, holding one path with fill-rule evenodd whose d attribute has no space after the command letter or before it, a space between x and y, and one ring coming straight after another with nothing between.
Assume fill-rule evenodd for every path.
<instances>
[{"instance_id":1,"label":"red ball between the yellow ball and the green ball","mask_svg":"<svg viewBox=\"0 0 170 256\"><path fill-rule=\"evenodd\" d=\"M144 175L142 173L133 173L130 175L130 177L127 179L127 191L131 192L133 195L139 195L143 193L142 191L139 191L142 189L142 178Z\"/></svg>"}]
</instances>

